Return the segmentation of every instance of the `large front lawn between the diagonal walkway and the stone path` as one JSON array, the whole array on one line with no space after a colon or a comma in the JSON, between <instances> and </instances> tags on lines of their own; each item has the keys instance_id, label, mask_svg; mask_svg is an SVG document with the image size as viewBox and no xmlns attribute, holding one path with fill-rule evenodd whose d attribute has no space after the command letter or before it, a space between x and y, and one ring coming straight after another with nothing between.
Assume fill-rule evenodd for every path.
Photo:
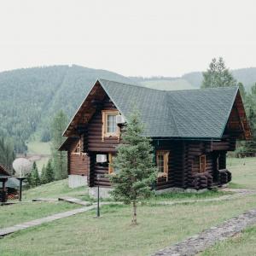
<instances>
[{"instance_id":1,"label":"large front lawn between the diagonal walkway and the stone path","mask_svg":"<svg viewBox=\"0 0 256 256\"><path fill-rule=\"evenodd\" d=\"M256 207L256 197L236 201L138 207L136 227L131 207L102 207L50 224L21 230L0 240L1 255L149 255L177 241Z\"/></svg>"}]
</instances>

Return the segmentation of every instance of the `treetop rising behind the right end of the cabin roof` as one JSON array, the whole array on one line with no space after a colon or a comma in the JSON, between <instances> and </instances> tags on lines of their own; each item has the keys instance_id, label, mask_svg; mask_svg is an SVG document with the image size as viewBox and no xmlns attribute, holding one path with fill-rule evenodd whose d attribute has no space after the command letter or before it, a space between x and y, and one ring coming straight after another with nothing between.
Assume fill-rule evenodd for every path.
<instances>
[{"instance_id":1,"label":"treetop rising behind the right end of the cabin roof","mask_svg":"<svg viewBox=\"0 0 256 256\"><path fill-rule=\"evenodd\" d=\"M223 58L219 57L218 61L213 58L207 72L203 73L201 88L226 87L235 85L236 79L234 79L232 73L230 73L230 70L225 67Z\"/></svg>"}]
</instances>

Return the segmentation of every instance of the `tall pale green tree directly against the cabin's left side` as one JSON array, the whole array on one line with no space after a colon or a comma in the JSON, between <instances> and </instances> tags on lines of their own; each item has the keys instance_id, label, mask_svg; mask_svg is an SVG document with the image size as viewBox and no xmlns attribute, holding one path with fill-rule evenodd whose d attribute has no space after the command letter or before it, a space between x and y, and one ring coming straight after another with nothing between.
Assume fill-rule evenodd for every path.
<instances>
[{"instance_id":1,"label":"tall pale green tree directly against the cabin's left side","mask_svg":"<svg viewBox=\"0 0 256 256\"><path fill-rule=\"evenodd\" d=\"M61 143L65 140L62 133L67 127L67 115L62 110L56 113L51 123L51 154L53 159L53 167L55 179L63 179L67 177L67 153L58 151Z\"/></svg>"}]
</instances>

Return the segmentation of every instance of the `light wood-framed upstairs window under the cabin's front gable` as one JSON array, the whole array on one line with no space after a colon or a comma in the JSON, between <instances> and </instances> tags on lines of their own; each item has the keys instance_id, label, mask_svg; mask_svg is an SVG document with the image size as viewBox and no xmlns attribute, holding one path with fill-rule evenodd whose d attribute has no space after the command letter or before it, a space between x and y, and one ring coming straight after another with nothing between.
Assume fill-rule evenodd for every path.
<instances>
[{"instance_id":1,"label":"light wood-framed upstairs window under the cabin's front gable","mask_svg":"<svg viewBox=\"0 0 256 256\"><path fill-rule=\"evenodd\" d=\"M116 124L117 111L102 110L102 140L104 137L119 137L119 126Z\"/></svg>"}]
</instances>

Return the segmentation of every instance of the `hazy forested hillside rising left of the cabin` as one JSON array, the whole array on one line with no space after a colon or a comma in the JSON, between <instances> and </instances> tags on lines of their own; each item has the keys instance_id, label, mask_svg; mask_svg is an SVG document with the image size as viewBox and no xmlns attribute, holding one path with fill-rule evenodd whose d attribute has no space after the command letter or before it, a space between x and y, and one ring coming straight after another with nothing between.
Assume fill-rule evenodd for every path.
<instances>
[{"instance_id":1,"label":"hazy forested hillside rising left of the cabin","mask_svg":"<svg viewBox=\"0 0 256 256\"><path fill-rule=\"evenodd\" d=\"M68 117L97 78L131 82L104 70L79 66L35 67L0 73L0 137L11 137L15 151L26 151L26 140L40 130L49 138L49 119L63 109Z\"/></svg>"}]
</instances>

